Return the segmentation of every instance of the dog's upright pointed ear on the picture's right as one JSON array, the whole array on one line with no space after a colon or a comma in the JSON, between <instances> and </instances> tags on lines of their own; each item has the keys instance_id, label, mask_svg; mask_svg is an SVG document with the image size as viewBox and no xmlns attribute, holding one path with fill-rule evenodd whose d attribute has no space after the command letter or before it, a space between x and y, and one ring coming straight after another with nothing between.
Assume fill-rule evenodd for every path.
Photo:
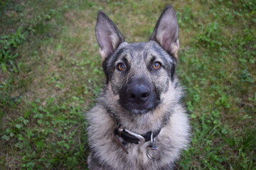
<instances>
[{"instance_id":1,"label":"dog's upright pointed ear on the picture's right","mask_svg":"<svg viewBox=\"0 0 256 170\"><path fill-rule=\"evenodd\" d=\"M150 40L158 42L166 52L176 58L178 57L178 21L172 6L164 8Z\"/></svg>"}]
</instances>

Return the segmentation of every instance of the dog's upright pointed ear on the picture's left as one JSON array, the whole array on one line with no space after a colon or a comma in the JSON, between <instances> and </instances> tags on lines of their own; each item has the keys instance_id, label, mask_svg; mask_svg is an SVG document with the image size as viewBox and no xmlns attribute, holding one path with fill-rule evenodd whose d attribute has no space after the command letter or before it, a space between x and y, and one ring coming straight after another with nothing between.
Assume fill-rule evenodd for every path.
<instances>
[{"instance_id":1,"label":"dog's upright pointed ear on the picture's left","mask_svg":"<svg viewBox=\"0 0 256 170\"><path fill-rule=\"evenodd\" d=\"M121 42L124 42L124 37L117 29L117 26L102 11L99 11L97 15L95 33L103 61L112 55Z\"/></svg>"}]
</instances>

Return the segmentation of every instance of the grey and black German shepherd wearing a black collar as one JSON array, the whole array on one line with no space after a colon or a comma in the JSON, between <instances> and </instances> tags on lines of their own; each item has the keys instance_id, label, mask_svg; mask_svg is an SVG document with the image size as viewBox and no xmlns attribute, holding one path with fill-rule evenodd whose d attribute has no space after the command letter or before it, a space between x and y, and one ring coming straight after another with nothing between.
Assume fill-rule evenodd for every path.
<instances>
[{"instance_id":1,"label":"grey and black German shepherd wearing a black collar","mask_svg":"<svg viewBox=\"0 0 256 170\"><path fill-rule=\"evenodd\" d=\"M105 87L87 112L89 169L173 169L190 141L190 125L175 74L178 21L166 6L149 42L125 42L99 11L95 34Z\"/></svg>"}]
</instances>

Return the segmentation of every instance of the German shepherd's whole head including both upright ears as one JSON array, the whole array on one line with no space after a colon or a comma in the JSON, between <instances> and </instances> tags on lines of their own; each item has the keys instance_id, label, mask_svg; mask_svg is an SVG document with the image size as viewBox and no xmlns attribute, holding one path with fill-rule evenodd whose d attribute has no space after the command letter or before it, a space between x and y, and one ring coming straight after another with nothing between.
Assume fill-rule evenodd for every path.
<instances>
[{"instance_id":1,"label":"German shepherd's whole head including both upright ears","mask_svg":"<svg viewBox=\"0 0 256 170\"><path fill-rule=\"evenodd\" d=\"M147 113L156 108L174 79L179 47L174 9L166 6L149 42L125 42L102 11L95 32L107 84L122 108L130 113Z\"/></svg>"}]
</instances>

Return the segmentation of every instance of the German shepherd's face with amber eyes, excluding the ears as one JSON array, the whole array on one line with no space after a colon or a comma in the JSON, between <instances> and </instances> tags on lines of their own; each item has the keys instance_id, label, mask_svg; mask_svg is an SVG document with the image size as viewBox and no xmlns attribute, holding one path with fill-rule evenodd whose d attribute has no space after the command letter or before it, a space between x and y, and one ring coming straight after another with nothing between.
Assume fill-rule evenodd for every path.
<instances>
[{"instance_id":1,"label":"German shepherd's face with amber eyes, excluding the ears","mask_svg":"<svg viewBox=\"0 0 256 170\"><path fill-rule=\"evenodd\" d=\"M175 59L155 41L122 45L105 61L108 84L132 113L146 113L161 102L174 76Z\"/></svg>"}]
</instances>

